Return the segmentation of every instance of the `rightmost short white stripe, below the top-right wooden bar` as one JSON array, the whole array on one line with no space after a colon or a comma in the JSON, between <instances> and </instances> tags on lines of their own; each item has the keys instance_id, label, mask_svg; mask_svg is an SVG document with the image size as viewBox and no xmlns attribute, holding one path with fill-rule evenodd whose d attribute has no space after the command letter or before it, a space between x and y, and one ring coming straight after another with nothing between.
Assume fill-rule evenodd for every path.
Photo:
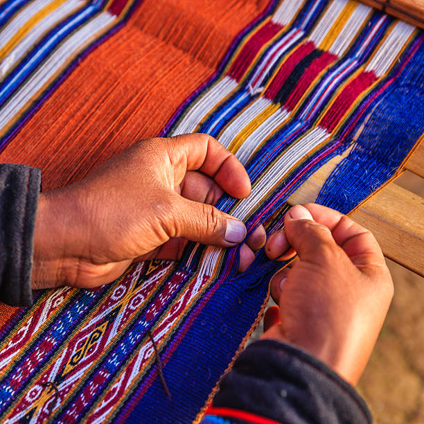
<instances>
[{"instance_id":1,"label":"rightmost short white stripe, below the top-right wooden bar","mask_svg":"<svg viewBox=\"0 0 424 424\"><path fill-rule=\"evenodd\" d=\"M365 71L374 71L376 76L383 76L391 67L403 46L414 32L415 27L403 21L396 22L378 51L373 55Z\"/></svg>"}]
</instances>

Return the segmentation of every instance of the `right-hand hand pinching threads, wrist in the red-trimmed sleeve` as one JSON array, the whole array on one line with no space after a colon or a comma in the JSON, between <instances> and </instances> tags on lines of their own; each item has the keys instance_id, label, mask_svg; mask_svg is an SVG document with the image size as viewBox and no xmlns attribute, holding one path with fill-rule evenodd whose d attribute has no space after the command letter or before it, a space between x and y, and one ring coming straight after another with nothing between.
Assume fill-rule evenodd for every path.
<instances>
[{"instance_id":1,"label":"right-hand hand pinching threads, wrist in the red-trimmed sleeve","mask_svg":"<svg viewBox=\"0 0 424 424\"><path fill-rule=\"evenodd\" d=\"M309 351L355 385L364 371L393 297L393 283L373 235L318 204L294 206L285 229L267 240L272 258L299 255L277 272L264 338Z\"/></svg>"}]
</instances>

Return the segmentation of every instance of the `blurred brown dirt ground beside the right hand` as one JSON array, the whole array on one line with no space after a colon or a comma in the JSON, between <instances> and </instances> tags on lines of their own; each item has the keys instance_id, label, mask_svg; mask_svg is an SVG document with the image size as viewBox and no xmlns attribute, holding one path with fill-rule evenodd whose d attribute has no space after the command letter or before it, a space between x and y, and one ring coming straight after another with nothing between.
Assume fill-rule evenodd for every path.
<instances>
[{"instance_id":1,"label":"blurred brown dirt ground beside the right hand","mask_svg":"<svg viewBox=\"0 0 424 424\"><path fill-rule=\"evenodd\" d=\"M416 175L404 173L396 184L424 197ZM358 389L376 424L424 424L424 279L391 260L387 265L394 299Z\"/></svg>"}]
</instances>

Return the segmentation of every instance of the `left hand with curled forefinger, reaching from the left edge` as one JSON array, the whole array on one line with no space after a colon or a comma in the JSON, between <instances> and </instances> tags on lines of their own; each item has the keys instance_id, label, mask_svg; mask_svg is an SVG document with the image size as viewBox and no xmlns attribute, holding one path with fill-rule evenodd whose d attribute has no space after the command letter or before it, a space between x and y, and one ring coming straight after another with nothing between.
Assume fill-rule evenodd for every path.
<instances>
[{"instance_id":1,"label":"left hand with curled forefinger, reaching from the left edge","mask_svg":"<svg viewBox=\"0 0 424 424\"><path fill-rule=\"evenodd\" d=\"M211 206L226 191L247 197L242 164L206 134L146 139L77 184L42 193L33 288L95 287L134 260L179 259L187 240L233 247L245 225ZM260 227L240 249L240 271L265 244Z\"/></svg>"}]
</instances>

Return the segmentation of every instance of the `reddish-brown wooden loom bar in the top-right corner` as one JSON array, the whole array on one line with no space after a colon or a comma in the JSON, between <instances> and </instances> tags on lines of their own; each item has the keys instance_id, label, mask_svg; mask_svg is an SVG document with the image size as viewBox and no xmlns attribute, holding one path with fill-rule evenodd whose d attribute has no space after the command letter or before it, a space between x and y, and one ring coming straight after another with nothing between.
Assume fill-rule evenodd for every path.
<instances>
[{"instance_id":1,"label":"reddish-brown wooden loom bar in the top-right corner","mask_svg":"<svg viewBox=\"0 0 424 424\"><path fill-rule=\"evenodd\" d=\"M424 0L360 0L389 15L424 28Z\"/></svg>"}]
</instances>

